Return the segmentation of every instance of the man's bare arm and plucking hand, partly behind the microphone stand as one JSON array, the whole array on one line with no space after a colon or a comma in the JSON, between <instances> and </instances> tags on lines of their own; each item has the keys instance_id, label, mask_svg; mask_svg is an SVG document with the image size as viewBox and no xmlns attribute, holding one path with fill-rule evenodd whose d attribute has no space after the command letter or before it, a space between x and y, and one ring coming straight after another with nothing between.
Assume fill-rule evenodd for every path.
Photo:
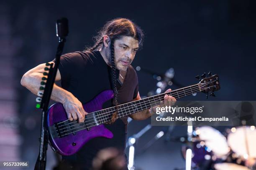
<instances>
[{"instance_id":1,"label":"man's bare arm and plucking hand, partly behind the microphone stand","mask_svg":"<svg viewBox=\"0 0 256 170\"><path fill-rule=\"evenodd\" d=\"M28 72L26 72L23 75L20 81L21 85L26 87L35 95L37 95L39 88L41 86L40 84L41 78L43 77L43 72L45 72L44 67L45 67L45 63L40 64L32 68L31 70L28 70ZM59 70L57 71L55 81L57 80L61 80L61 74ZM54 83L54 87L51 92L51 99L56 102L61 102L63 104L69 120L73 120L73 119L77 120L77 117L78 117L79 122L84 121L84 117L87 114L87 112L84 111L82 107L82 103L76 97L74 97L74 95L72 95L71 92L64 90L63 88L57 86Z\"/></svg>"}]
</instances>

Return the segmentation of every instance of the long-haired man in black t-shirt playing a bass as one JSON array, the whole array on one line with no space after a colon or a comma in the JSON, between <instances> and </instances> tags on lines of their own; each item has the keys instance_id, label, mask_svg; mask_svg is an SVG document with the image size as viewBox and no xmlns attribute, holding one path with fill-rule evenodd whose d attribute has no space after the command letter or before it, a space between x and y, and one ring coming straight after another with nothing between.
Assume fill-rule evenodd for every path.
<instances>
[{"instance_id":1,"label":"long-haired man in black t-shirt playing a bass","mask_svg":"<svg viewBox=\"0 0 256 170\"><path fill-rule=\"evenodd\" d=\"M141 28L131 20L117 18L107 22L95 40L93 47L82 52L67 53L60 58L56 80L61 80L61 87L54 84L51 99L63 104L71 121L78 119L83 122L87 112L82 103L92 100L104 90L112 89L115 94L113 101L106 102L104 107L141 99L137 74L131 66L136 51L142 46ZM38 65L22 77L21 84L34 94L38 93L44 67L45 64ZM162 105L169 106L175 102L174 97L166 95ZM156 111L156 107L133 113L130 117L144 120ZM78 153L62 156L62 160L73 166L79 165L81 169L89 169L99 150L108 147L124 150L127 117L116 117L116 113L113 114L110 123L105 125L113 133L112 139L94 138Z\"/></svg>"}]
</instances>

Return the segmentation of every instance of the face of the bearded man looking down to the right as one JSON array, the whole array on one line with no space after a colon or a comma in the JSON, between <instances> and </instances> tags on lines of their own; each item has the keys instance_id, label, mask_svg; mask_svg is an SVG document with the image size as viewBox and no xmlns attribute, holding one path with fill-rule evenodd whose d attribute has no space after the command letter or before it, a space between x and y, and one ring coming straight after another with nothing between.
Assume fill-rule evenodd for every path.
<instances>
[{"instance_id":1,"label":"face of the bearded man looking down to the right","mask_svg":"<svg viewBox=\"0 0 256 170\"><path fill-rule=\"evenodd\" d=\"M126 70L129 67L133 62L138 47L138 40L133 37L123 36L115 40L115 66L118 70Z\"/></svg>"}]
</instances>

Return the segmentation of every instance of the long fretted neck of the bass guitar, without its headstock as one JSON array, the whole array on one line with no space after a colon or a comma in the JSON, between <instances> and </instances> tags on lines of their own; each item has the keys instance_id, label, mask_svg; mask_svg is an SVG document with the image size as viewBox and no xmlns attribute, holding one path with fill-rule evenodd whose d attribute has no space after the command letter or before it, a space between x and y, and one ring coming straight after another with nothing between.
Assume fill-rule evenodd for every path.
<instances>
[{"instance_id":1,"label":"long fretted neck of the bass guitar, without its headstock","mask_svg":"<svg viewBox=\"0 0 256 170\"><path fill-rule=\"evenodd\" d=\"M128 102L125 104L118 105L118 117L125 117L128 115L131 115L135 112L139 112L142 110L149 109L151 107L157 106L160 104L161 101L164 101L165 95L171 95L175 97L176 99L192 95L194 93L200 92L200 84L190 85L187 87L183 87L177 90L173 90L171 92L161 93L159 95L154 95L151 97L146 97L141 100L136 100L133 102ZM111 120L111 117L114 112L116 112L116 107L109 107L103 110L97 111L97 114L101 115L100 118L100 124L109 122Z\"/></svg>"}]
</instances>

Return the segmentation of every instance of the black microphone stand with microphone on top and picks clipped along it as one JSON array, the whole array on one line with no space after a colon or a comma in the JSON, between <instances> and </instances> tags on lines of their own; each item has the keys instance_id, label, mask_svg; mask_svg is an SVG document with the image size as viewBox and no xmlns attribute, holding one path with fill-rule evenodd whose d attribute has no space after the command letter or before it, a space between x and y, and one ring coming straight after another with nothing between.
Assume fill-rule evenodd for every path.
<instances>
[{"instance_id":1,"label":"black microphone stand with microphone on top and picks clipped along it","mask_svg":"<svg viewBox=\"0 0 256 170\"><path fill-rule=\"evenodd\" d=\"M36 160L36 165L35 165L34 170L45 170L45 168L46 168L46 151L47 151L48 143L49 143L48 132L46 129L46 127L47 127L46 112L48 110L51 92L52 92L52 88L54 85L56 73L58 70L59 62L60 62L60 56L61 56L61 53L64 48L64 43L66 42L65 37L68 34L67 25L68 25L67 18L61 18L60 20L57 20L57 22L56 22L56 34L59 37L59 45L57 47L57 52L56 52L56 56L55 56L55 65L53 67L53 63L51 63L51 64L46 63L46 66L50 66L50 68L45 67L44 70L49 70L49 73L44 72L44 75L47 75L47 79L46 79L46 77L43 77L42 80L47 80L47 81L46 81L46 83L44 81L42 81L41 85L45 84L45 87L43 87L43 86L40 87L40 90L44 90L44 94L39 95L39 92L38 92L38 95L40 97L36 98L37 101L41 100L41 104L37 104L36 107L42 109L42 116L41 116L42 120L41 120L41 136L39 138L40 149L39 149L39 154L38 154L38 158ZM42 98L41 98L41 96L42 96Z\"/></svg>"}]
</instances>

